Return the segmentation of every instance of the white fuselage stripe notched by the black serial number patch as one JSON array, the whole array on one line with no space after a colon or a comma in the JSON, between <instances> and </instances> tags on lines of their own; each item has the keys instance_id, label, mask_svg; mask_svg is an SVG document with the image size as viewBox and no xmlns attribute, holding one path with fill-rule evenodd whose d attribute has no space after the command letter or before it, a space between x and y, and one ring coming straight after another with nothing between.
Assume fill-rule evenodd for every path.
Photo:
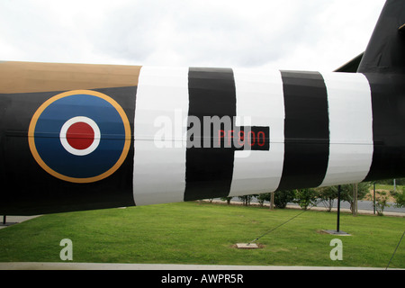
<instances>
[{"instance_id":1,"label":"white fuselage stripe notched by the black serial number patch","mask_svg":"<svg viewBox=\"0 0 405 288\"><path fill-rule=\"evenodd\" d=\"M270 127L269 150L235 151L229 196L275 191L284 163L284 95L279 71L234 69L237 126ZM250 120L250 123L238 122Z\"/></svg>"}]
</instances>

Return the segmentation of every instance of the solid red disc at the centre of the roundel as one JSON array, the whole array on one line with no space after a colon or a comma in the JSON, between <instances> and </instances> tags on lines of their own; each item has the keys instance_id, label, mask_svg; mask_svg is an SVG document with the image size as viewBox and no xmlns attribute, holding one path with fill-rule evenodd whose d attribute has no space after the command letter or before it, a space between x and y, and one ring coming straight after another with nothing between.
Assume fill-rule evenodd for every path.
<instances>
[{"instance_id":1,"label":"solid red disc at the centre of the roundel","mask_svg":"<svg viewBox=\"0 0 405 288\"><path fill-rule=\"evenodd\" d=\"M76 122L67 129L66 139L71 147L83 150L92 145L94 130L85 122Z\"/></svg>"}]
</instances>

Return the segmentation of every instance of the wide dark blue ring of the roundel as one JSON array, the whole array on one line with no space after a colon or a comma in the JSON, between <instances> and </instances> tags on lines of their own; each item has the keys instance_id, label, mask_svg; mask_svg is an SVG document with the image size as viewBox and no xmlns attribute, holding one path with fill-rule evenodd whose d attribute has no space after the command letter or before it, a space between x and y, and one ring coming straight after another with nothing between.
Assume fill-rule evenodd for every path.
<instances>
[{"instance_id":1,"label":"wide dark blue ring of the roundel","mask_svg":"<svg viewBox=\"0 0 405 288\"><path fill-rule=\"evenodd\" d=\"M100 144L90 154L76 156L61 144L63 124L76 116L85 116L98 125ZM91 94L72 94L50 103L36 123L35 147L42 161L60 175L90 178L108 171L121 157L125 129L121 115L112 103Z\"/></svg>"}]
</instances>

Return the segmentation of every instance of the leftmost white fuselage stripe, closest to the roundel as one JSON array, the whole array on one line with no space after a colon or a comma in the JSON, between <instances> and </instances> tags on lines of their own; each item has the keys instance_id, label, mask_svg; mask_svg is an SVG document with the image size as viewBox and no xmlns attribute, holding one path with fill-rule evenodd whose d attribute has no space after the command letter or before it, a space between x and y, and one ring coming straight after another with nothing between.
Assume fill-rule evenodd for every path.
<instances>
[{"instance_id":1,"label":"leftmost white fuselage stripe, closest to the roundel","mask_svg":"<svg viewBox=\"0 0 405 288\"><path fill-rule=\"evenodd\" d=\"M136 205L182 202L188 67L142 67L135 110L133 194Z\"/></svg>"}]
</instances>

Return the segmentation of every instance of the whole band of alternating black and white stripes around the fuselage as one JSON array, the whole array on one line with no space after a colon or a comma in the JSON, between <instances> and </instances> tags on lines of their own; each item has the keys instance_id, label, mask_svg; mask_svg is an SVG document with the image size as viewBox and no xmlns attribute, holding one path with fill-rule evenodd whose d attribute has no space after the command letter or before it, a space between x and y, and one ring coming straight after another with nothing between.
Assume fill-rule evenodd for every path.
<instances>
[{"instance_id":1,"label":"whole band of alternating black and white stripes around the fuselage","mask_svg":"<svg viewBox=\"0 0 405 288\"><path fill-rule=\"evenodd\" d=\"M375 151L380 153L381 139L386 139L385 132L378 130L387 121L378 111L388 104L378 92L379 80L370 84L370 78L347 73L142 67L134 121L136 204L378 178L385 162ZM204 116L228 116L233 126L268 127L269 148L187 147L191 116L201 121ZM394 160L393 165L399 163Z\"/></svg>"}]
</instances>

